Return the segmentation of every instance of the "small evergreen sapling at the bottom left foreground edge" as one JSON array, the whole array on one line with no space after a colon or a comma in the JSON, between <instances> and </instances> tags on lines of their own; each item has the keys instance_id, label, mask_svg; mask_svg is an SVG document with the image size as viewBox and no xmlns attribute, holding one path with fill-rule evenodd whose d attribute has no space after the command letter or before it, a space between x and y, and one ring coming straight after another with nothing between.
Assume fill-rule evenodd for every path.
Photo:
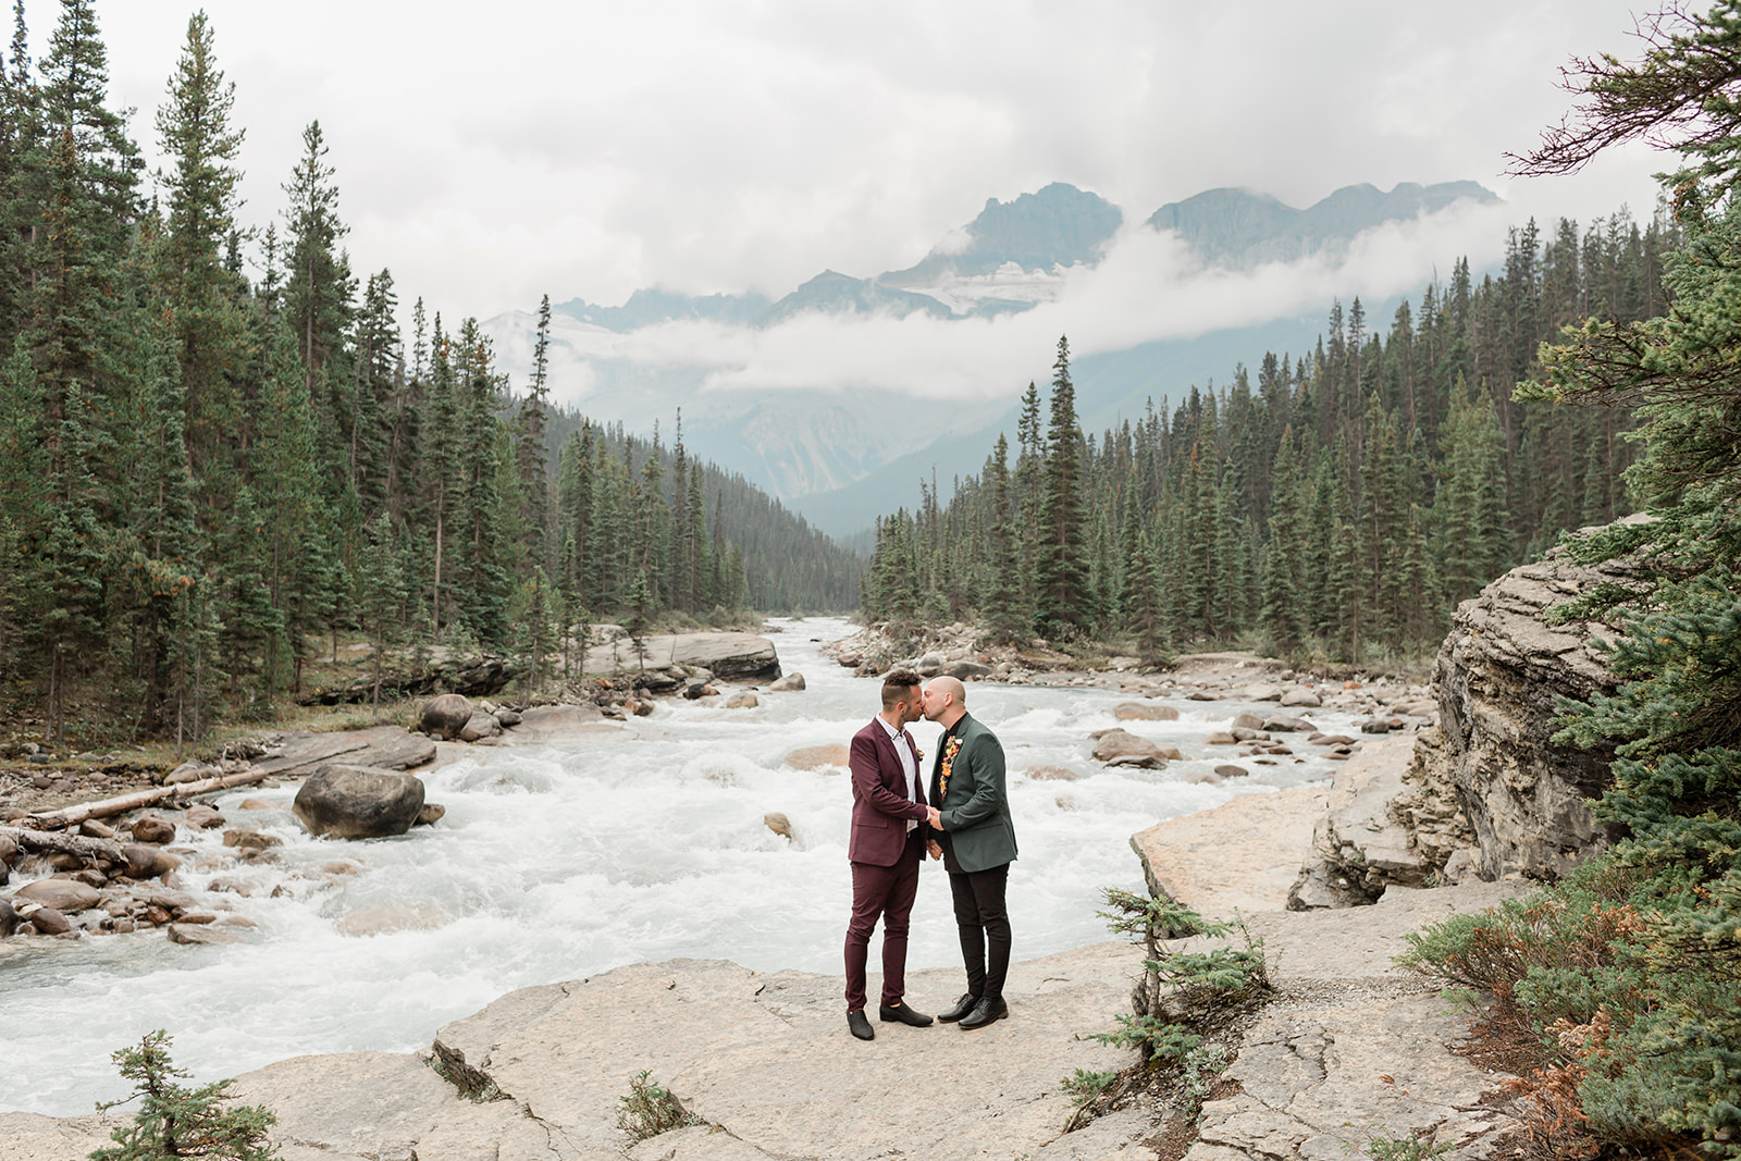
<instances>
[{"instance_id":1,"label":"small evergreen sapling at the bottom left foreground edge","mask_svg":"<svg viewBox=\"0 0 1741 1161\"><path fill-rule=\"evenodd\" d=\"M188 1072L169 1060L169 1034L148 1032L138 1048L122 1048L113 1057L120 1074L132 1081L132 1097L99 1104L113 1109L143 1097L132 1124L117 1128L113 1147L97 1149L91 1161L160 1161L162 1158L230 1158L233 1161L275 1161L277 1147L266 1130L279 1119L263 1105L223 1107L225 1090L235 1081L214 1081L185 1088L178 1077Z\"/></svg>"}]
</instances>

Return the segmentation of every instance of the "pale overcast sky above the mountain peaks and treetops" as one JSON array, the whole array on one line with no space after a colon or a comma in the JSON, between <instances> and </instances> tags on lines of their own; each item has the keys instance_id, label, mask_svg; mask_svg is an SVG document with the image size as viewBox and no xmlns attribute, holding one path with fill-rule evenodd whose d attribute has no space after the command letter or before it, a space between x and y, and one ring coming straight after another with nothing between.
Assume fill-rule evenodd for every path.
<instances>
[{"instance_id":1,"label":"pale overcast sky above the mountain peaks and treetops","mask_svg":"<svg viewBox=\"0 0 1741 1161\"><path fill-rule=\"evenodd\" d=\"M57 5L28 0L40 45ZM151 113L181 0L97 0L118 104ZM1048 181L1147 216L1213 186L1294 205L1469 178L1522 212L1647 214L1654 158L1506 183L1572 52L1630 52L1612 0L209 0L247 129L244 219L319 118L359 272L489 317L641 285L789 291L921 258Z\"/></svg>"}]
</instances>

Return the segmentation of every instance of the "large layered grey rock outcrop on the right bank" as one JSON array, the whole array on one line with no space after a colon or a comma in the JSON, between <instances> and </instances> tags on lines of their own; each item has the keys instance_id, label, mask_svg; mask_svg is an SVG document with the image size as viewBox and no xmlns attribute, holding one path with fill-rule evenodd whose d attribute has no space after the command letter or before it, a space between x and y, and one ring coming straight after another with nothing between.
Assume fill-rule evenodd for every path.
<instances>
[{"instance_id":1,"label":"large layered grey rock outcrop on the right bank","mask_svg":"<svg viewBox=\"0 0 1741 1161\"><path fill-rule=\"evenodd\" d=\"M1348 907L1391 884L1473 876L1555 879L1603 842L1588 801L1607 789L1612 752L1553 735L1560 698L1614 691L1593 644L1616 630L1543 613L1630 576L1624 560L1584 567L1553 550L1464 601L1433 667L1438 724L1395 785L1349 787L1341 813L1332 794L1288 905Z\"/></svg>"}]
</instances>

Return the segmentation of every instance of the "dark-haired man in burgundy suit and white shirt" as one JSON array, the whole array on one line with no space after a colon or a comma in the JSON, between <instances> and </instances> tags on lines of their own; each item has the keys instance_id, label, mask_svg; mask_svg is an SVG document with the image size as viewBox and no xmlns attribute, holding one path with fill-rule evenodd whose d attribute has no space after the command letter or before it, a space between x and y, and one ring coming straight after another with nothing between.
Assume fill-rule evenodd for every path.
<instances>
[{"instance_id":1,"label":"dark-haired man in burgundy suit and white shirt","mask_svg":"<svg viewBox=\"0 0 1741 1161\"><path fill-rule=\"evenodd\" d=\"M919 747L907 722L924 715L919 675L897 668L883 677L883 712L853 735L853 921L846 928L846 1027L862 1041L876 1030L865 1017L865 959L870 931L883 919L883 1020L916 1029L931 1022L902 999L907 990L907 926L919 893L919 862L931 832L919 785Z\"/></svg>"}]
</instances>

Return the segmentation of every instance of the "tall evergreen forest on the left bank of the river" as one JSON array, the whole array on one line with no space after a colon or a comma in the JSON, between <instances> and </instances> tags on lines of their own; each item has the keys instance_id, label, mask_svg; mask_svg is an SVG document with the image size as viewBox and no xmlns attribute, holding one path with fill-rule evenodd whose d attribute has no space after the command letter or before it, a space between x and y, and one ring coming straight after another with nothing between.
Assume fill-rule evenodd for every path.
<instances>
[{"instance_id":1,"label":"tall evergreen forest on the left bank of the river","mask_svg":"<svg viewBox=\"0 0 1741 1161\"><path fill-rule=\"evenodd\" d=\"M148 183L92 0L0 52L0 691L200 736L319 641L536 658L599 618L839 609L858 562L740 477L524 397L474 319L359 277L319 122L263 232L204 14ZM256 268L258 277L247 270ZM97 703L92 708L92 700Z\"/></svg>"}]
</instances>

